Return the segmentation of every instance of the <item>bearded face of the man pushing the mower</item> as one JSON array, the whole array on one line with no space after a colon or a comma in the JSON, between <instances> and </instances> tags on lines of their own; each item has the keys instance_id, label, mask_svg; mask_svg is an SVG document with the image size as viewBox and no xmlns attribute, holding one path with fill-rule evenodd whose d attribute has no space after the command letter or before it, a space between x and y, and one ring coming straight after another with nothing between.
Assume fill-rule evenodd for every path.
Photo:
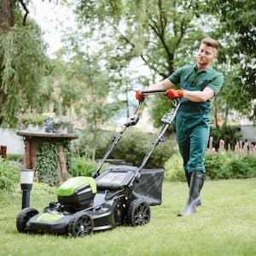
<instances>
[{"instance_id":1,"label":"bearded face of the man pushing the mower","mask_svg":"<svg viewBox=\"0 0 256 256\"><path fill-rule=\"evenodd\" d=\"M208 65L217 57L217 50L207 44L201 44L197 53L197 64Z\"/></svg>"}]
</instances>

